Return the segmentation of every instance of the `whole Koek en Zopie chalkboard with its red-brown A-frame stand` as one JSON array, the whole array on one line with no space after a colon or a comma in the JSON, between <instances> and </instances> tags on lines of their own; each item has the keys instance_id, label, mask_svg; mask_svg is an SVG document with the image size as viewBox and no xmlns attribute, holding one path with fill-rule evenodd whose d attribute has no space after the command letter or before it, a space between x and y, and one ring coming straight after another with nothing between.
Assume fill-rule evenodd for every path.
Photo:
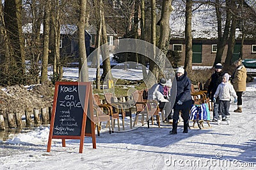
<instances>
[{"instance_id":1,"label":"whole Koek en Zopie chalkboard with its red-brown A-frame stand","mask_svg":"<svg viewBox=\"0 0 256 170\"><path fill-rule=\"evenodd\" d=\"M47 151L52 139L80 139L83 153L84 136L91 136L96 148L91 82L56 82Z\"/></svg>"}]
</instances>

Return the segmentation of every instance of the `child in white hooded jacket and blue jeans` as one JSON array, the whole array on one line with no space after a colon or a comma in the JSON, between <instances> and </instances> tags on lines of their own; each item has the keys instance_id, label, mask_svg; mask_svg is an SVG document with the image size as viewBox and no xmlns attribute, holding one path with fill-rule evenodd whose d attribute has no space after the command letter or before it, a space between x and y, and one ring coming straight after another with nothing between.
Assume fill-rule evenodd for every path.
<instances>
[{"instance_id":1,"label":"child in white hooded jacket and blue jeans","mask_svg":"<svg viewBox=\"0 0 256 170\"><path fill-rule=\"evenodd\" d=\"M229 74L225 73L222 76L222 82L218 85L216 93L213 96L213 102L216 102L216 98L220 98L219 102L219 113L220 115L225 115L225 120L227 120L228 125L230 124L230 113L228 112L230 107L230 97L234 97L234 102L237 102L237 95L234 87L230 82L228 82ZM218 118L218 124L220 124L221 118Z\"/></svg>"}]
</instances>

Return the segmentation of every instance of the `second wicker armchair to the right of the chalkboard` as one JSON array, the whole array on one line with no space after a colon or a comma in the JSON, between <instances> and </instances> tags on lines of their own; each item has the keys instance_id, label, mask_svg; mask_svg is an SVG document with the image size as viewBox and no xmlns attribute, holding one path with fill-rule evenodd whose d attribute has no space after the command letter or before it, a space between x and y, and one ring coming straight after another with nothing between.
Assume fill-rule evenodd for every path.
<instances>
[{"instance_id":1,"label":"second wicker armchair to the right of the chalkboard","mask_svg":"<svg viewBox=\"0 0 256 170\"><path fill-rule=\"evenodd\" d=\"M129 107L129 104L125 102L116 101L115 96L112 93L105 93L104 97L106 99L107 104L111 105L113 109L116 109L119 115L121 116L123 130L125 130L125 122L124 122L125 117L130 117L130 127L132 128L132 112L131 112L131 107ZM123 109L124 107L127 107L127 106L128 106L128 109ZM114 126L115 126L115 123L114 123ZM118 126L119 126L119 121L118 121Z\"/></svg>"}]
</instances>

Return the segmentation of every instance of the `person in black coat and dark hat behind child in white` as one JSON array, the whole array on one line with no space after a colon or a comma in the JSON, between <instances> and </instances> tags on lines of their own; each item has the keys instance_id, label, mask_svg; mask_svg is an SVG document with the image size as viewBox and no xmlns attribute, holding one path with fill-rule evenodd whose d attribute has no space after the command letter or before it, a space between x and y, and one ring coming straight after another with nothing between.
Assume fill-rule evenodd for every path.
<instances>
[{"instance_id":1,"label":"person in black coat and dark hat behind child in white","mask_svg":"<svg viewBox=\"0 0 256 170\"><path fill-rule=\"evenodd\" d=\"M216 93L216 90L217 90L219 84L221 84L222 76L225 74L225 72L223 72L222 68L223 67L222 67L221 63L217 63L215 65L215 72L211 75L211 82L207 89L207 97L210 97L212 101L213 101L213 95ZM218 98L216 98L216 102L214 102L214 104L213 104L213 120L212 121L214 121L214 122L218 121L218 119L220 117L218 114L219 103L220 103L220 99L218 97ZM224 118L224 116L223 116L223 118Z\"/></svg>"}]
</instances>

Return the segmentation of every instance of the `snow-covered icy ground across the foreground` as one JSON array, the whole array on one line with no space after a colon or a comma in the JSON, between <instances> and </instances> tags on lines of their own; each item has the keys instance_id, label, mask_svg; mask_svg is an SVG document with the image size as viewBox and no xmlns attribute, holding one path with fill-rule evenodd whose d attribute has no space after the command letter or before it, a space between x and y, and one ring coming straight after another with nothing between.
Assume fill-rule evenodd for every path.
<instances>
[{"instance_id":1,"label":"snow-covered icy ground across the foreground","mask_svg":"<svg viewBox=\"0 0 256 170\"><path fill-rule=\"evenodd\" d=\"M236 104L230 105L231 125L204 123L205 129L191 127L182 134L179 123L177 135L169 134L172 127L166 123L113 134L103 130L96 149L85 137L83 153L76 139L66 140L66 147L52 139L47 152L49 126L38 127L0 141L0 169L255 169L255 99L256 79L243 93L243 112L233 112Z\"/></svg>"}]
</instances>

